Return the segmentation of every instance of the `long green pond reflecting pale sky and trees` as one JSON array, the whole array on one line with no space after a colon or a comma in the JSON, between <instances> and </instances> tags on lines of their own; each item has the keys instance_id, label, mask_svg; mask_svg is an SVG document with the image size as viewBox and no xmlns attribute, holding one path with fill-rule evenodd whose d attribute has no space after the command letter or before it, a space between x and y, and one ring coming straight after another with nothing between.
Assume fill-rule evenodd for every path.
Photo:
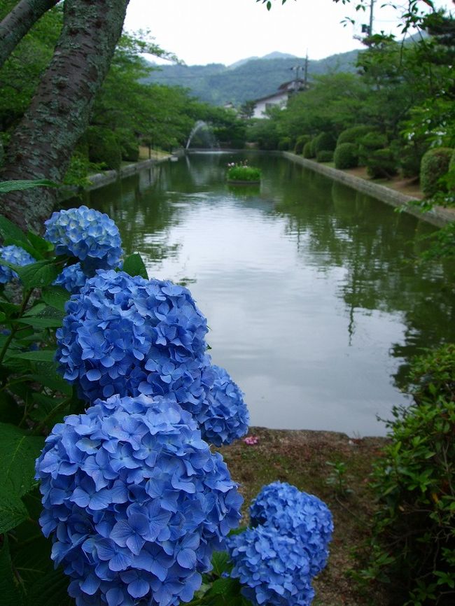
<instances>
[{"instance_id":1,"label":"long green pond reflecting pale sky and trees","mask_svg":"<svg viewBox=\"0 0 455 606\"><path fill-rule=\"evenodd\" d=\"M435 228L274 155L248 153L260 186L227 185L243 158L191 153L84 202L190 288L252 425L384 435L409 359L455 337L453 265L414 263Z\"/></svg>"}]
</instances>

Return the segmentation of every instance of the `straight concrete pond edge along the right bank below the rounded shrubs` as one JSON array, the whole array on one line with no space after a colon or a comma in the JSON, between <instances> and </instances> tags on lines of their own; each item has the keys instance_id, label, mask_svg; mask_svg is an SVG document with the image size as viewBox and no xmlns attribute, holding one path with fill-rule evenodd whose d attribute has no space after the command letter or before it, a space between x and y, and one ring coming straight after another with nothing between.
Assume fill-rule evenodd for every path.
<instances>
[{"instance_id":1,"label":"straight concrete pond edge along the right bank below the rounded shrubs","mask_svg":"<svg viewBox=\"0 0 455 606\"><path fill-rule=\"evenodd\" d=\"M281 152L281 155L288 158L288 160L292 160L292 162L302 164L303 167L311 171L323 174L334 181L339 181L339 183L344 183L358 192L372 196L378 200L381 200L381 202L385 202L386 204L391 204L391 206L399 207L416 199L412 196L407 196L401 192L397 192L391 188L387 188L385 185L379 185L379 183L366 181L363 178L325 166L324 164L319 164L314 160L308 160L307 158L295 155L291 152L283 151ZM437 225L437 227L442 227L455 219L455 214L448 209L444 209L442 206L437 206L426 213L421 213L418 209L413 209L412 207L407 206L405 212L412 214L423 221Z\"/></svg>"}]
</instances>

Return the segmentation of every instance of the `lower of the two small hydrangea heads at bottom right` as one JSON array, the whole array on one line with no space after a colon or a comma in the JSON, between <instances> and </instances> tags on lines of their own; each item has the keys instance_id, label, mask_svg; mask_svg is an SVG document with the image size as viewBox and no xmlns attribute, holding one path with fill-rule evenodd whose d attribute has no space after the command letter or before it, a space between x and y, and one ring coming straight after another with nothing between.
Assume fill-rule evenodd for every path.
<instances>
[{"instance_id":1,"label":"lower of the two small hydrangea heads at bottom right","mask_svg":"<svg viewBox=\"0 0 455 606\"><path fill-rule=\"evenodd\" d=\"M253 604L306 606L314 598L309 556L297 538L269 526L248 528L228 539L241 593Z\"/></svg>"}]
</instances>

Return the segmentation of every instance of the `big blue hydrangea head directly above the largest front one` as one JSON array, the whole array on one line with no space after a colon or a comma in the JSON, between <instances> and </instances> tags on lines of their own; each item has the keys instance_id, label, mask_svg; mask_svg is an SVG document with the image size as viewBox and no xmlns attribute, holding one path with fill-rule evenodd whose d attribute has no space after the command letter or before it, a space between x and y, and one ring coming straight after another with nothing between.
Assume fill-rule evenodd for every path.
<instances>
[{"instance_id":1,"label":"big blue hydrangea head directly above the largest front one","mask_svg":"<svg viewBox=\"0 0 455 606\"><path fill-rule=\"evenodd\" d=\"M169 281L98 271L66 304L57 360L80 396L173 394L200 414L213 384L207 320L189 290Z\"/></svg>"}]
</instances>

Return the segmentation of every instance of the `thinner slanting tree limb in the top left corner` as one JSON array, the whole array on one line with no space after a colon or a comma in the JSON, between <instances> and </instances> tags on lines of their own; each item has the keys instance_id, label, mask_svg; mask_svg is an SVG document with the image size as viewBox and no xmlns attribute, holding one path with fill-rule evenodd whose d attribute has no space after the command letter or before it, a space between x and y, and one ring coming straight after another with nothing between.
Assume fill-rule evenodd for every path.
<instances>
[{"instance_id":1,"label":"thinner slanting tree limb in the top left corner","mask_svg":"<svg viewBox=\"0 0 455 606\"><path fill-rule=\"evenodd\" d=\"M0 23L0 68L44 13L59 0L20 0Z\"/></svg>"}]
</instances>

